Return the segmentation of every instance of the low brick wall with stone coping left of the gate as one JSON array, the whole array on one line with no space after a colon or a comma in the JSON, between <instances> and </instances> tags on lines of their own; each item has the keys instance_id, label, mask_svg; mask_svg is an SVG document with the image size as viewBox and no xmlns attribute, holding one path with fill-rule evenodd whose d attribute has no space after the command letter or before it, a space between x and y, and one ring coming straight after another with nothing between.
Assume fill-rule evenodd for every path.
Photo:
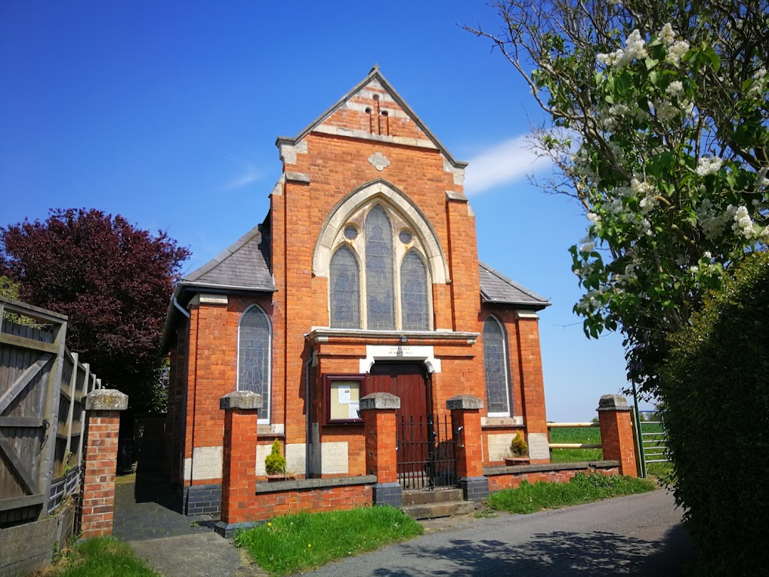
<instances>
[{"instance_id":1,"label":"low brick wall with stone coping left of the gate","mask_svg":"<svg viewBox=\"0 0 769 577\"><path fill-rule=\"evenodd\" d=\"M278 515L371 505L371 488L376 482L375 475L362 475L338 479L257 483L256 495L248 502L248 508L243 515L238 515L238 522L218 522L215 529L220 535L230 537L239 527L259 525Z\"/></svg>"}]
</instances>

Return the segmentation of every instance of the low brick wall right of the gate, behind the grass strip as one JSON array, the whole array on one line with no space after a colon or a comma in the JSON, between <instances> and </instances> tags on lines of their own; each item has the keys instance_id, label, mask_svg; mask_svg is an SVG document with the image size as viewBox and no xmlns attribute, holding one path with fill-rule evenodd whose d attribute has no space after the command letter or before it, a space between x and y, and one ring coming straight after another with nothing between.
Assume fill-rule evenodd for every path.
<instances>
[{"instance_id":1,"label":"low brick wall right of the gate, behind the grass strip","mask_svg":"<svg viewBox=\"0 0 769 577\"><path fill-rule=\"evenodd\" d=\"M490 492L514 489L521 482L538 481L568 482L577 473L601 472L604 475L619 475L617 461L584 461L574 463L545 463L542 465L517 465L514 467L484 467Z\"/></svg>"}]
</instances>

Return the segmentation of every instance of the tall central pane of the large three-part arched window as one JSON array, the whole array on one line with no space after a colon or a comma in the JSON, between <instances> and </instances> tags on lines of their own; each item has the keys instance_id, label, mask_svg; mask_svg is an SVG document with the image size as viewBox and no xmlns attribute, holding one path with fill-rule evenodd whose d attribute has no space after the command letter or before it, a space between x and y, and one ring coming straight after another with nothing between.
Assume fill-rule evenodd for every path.
<instances>
[{"instance_id":1,"label":"tall central pane of the large three-part arched window","mask_svg":"<svg viewBox=\"0 0 769 577\"><path fill-rule=\"evenodd\" d=\"M392 226L381 206L366 217L367 328L395 329L395 299L392 268Z\"/></svg>"}]
</instances>

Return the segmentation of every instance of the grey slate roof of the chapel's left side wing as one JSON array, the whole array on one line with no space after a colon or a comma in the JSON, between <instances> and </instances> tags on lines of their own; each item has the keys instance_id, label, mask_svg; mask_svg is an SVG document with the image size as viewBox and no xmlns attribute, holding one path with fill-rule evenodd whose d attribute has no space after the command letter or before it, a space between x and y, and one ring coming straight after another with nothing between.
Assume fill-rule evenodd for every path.
<instances>
[{"instance_id":1,"label":"grey slate roof of the chapel's left side wing","mask_svg":"<svg viewBox=\"0 0 769 577\"><path fill-rule=\"evenodd\" d=\"M259 226L251 228L238 242L181 281L187 285L275 292L275 282L268 265L268 242L268 238L263 238Z\"/></svg>"}]
</instances>

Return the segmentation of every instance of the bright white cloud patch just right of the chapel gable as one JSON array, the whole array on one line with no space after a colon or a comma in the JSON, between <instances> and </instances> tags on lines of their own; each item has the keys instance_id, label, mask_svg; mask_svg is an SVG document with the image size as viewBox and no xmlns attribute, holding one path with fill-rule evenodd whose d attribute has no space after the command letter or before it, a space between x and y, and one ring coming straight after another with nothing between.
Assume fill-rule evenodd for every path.
<instances>
[{"instance_id":1,"label":"bright white cloud patch just right of the chapel gable","mask_svg":"<svg viewBox=\"0 0 769 577\"><path fill-rule=\"evenodd\" d=\"M478 195L548 168L550 159L537 156L531 150L529 138L529 135L510 138L471 158L465 172L464 192Z\"/></svg>"}]
</instances>

